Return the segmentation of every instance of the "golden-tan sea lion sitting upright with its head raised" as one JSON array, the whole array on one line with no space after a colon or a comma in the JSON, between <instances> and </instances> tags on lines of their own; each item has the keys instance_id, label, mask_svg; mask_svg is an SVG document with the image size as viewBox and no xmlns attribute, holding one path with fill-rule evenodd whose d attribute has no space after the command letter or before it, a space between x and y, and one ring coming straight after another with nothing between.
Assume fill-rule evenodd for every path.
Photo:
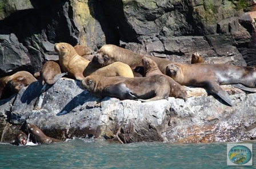
<instances>
[{"instance_id":1,"label":"golden-tan sea lion sitting upright with its head raised","mask_svg":"<svg viewBox=\"0 0 256 169\"><path fill-rule=\"evenodd\" d=\"M56 43L54 48L58 52L62 71L67 72L67 76L73 79L82 80L91 73L101 76L134 77L127 64L117 62L104 68L97 68L91 64L91 61L79 56L74 47L68 43Z\"/></svg>"}]
</instances>

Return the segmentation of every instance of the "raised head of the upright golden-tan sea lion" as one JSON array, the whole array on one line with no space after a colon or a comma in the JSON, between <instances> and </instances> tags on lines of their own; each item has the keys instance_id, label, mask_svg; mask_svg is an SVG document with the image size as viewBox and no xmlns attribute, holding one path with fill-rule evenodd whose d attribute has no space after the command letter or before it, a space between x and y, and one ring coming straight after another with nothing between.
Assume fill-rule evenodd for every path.
<instances>
[{"instance_id":1,"label":"raised head of the upright golden-tan sea lion","mask_svg":"<svg viewBox=\"0 0 256 169\"><path fill-rule=\"evenodd\" d=\"M66 56L73 56L77 54L74 47L69 43L55 43L54 50L58 53L59 59L63 59Z\"/></svg>"}]
</instances>

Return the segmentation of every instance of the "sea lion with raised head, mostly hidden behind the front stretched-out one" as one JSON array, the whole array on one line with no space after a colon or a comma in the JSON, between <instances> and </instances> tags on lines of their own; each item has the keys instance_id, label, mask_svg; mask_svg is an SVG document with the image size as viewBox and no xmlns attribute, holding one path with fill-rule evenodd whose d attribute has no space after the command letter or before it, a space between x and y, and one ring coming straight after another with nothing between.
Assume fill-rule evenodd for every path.
<instances>
[{"instance_id":1,"label":"sea lion with raised head, mostly hidden behind the front stretched-out one","mask_svg":"<svg viewBox=\"0 0 256 169\"><path fill-rule=\"evenodd\" d=\"M163 73L159 70L157 63L149 57L142 57L142 64L144 67L144 74L146 77L154 76L154 75L163 75ZM169 97L182 98L184 101L187 100L187 92L186 90L178 84L176 81L171 79L170 76L163 75L168 80L170 85L170 94Z\"/></svg>"}]
</instances>

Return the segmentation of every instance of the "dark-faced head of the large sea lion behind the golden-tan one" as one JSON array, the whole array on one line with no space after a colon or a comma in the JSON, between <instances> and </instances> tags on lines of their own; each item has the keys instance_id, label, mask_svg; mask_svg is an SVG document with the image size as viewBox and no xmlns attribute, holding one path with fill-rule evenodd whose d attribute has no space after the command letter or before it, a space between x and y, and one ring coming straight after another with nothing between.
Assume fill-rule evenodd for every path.
<instances>
[{"instance_id":1,"label":"dark-faced head of the large sea lion behind the golden-tan one","mask_svg":"<svg viewBox=\"0 0 256 169\"><path fill-rule=\"evenodd\" d=\"M91 61L95 67L105 67L105 65L109 65L113 63L111 57L101 51L98 51Z\"/></svg>"}]
</instances>

